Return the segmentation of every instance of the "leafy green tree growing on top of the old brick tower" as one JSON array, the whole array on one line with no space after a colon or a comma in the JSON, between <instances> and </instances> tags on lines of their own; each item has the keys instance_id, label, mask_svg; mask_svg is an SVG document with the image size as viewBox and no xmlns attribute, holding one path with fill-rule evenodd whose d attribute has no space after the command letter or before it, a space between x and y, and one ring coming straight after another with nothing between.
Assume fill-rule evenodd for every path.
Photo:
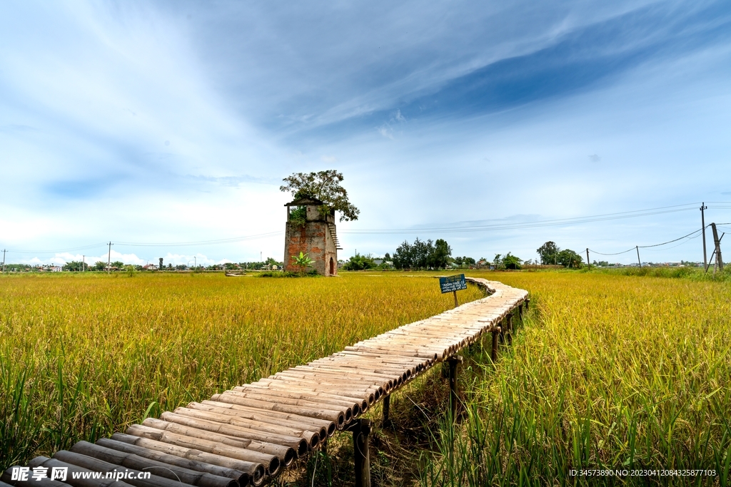
<instances>
[{"instance_id":1,"label":"leafy green tree growing on top of the old brick tower","mask_svg":"<svg viewBox=\"0 0 731 487\"><path fill-rule=\"evenodd\" d=\"M279 190L289 191L295 199L306 196L319 199L323 203L319 212L323 215L339 211L340 221L357 220L360 210L349 202L348 192L340 185L343 179L343 175L335 169L295 172L283 179L286 184L279 186Z\"/></svg>"}]
</instances>

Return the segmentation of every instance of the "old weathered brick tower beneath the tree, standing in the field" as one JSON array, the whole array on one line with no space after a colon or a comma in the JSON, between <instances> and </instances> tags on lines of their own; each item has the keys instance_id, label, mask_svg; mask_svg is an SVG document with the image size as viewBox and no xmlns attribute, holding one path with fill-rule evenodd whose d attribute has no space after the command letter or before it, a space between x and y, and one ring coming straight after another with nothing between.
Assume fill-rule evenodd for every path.
<instances>
[{"instance_id":1,"label":"old weathered brick tower beneath the tree, standing in the field","mask_svg":"<svg viewBox=\"0 0 731 487\"><path fill-rule=\"evenodd\" d=\"M300 270L292 263L292 256L300 252L312 259L312 267L320 275L338 275L338 234L335 227L335 211L322 215L319 199L302 197L285 204L287 207L287 231L284 237L284 270Z\"/></svg>"}]
</instances>

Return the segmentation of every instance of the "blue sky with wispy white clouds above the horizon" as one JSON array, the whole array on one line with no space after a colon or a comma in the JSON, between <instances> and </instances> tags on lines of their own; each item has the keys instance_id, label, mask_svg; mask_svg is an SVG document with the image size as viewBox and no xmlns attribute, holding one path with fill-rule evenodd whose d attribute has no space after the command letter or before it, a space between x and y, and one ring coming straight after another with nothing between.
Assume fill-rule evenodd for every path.
<instances>
[{"instance_id":1,"label":"blue sky with wispy white clouds above the horizon","mask_svg":"<svg viewBox=\"0 0 731 487\"><path fill-rule=\"evenodd\" d=\"M728 2L4 1L0 45L7 262L281 261L281 180L323 169L340 258L731 232Z\"/></svg>"}]
</instances>

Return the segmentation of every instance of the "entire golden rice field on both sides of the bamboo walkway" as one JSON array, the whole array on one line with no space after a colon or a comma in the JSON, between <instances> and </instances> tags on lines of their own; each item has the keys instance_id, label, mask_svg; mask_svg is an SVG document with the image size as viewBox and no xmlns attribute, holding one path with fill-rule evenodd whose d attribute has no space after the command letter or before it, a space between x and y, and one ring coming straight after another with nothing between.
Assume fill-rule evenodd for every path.
<instances>
[{"instance_id":1,"label":"entire golden rice field on both sides of the bamboo walkway","mask_svg":"<svg viewBox=\"0 0 731 487\"><path fill-rule=\"evenodd\" d=\"M465 350L460 423L446 421L444 404L418 391L395 395L393 417L412 427L428 415L422 438L432 441L418 442L426 449L421 459L420 448L401 448L414 464L411 479L382 451L404 431L376 430L371 469L376 477L386 472L376 485L729 484L730 283L468 274L529 290L531 312L495 366L489 347ZM418 276L1 277L0 463L110 434L452 307L433 277ZM479 297L474 288L461 293L462 301ZM438 390L444 398L438 376L417 380L423 394ZM580 467L716 475L569 475Z\"/></svg>"}]
</instances>

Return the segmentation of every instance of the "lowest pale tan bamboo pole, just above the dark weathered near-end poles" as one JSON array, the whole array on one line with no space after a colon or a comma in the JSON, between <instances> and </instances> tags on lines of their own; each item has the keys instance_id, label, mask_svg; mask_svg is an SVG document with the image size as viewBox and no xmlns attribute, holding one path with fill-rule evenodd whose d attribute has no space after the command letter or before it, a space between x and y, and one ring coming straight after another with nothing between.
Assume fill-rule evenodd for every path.
<instances>
[{"instance_id":1,"label":"lowest pale tan bamboo pole, just above the dark weathered near-end poles","mask_svg":"<svg viewBox=\"0 0 731 487\"><path fill-rule=\"evenodd\" d=\"M203 451L198 448L173 445L172 443L154 440L154 438L145 438L126 433L115 433L112 435L111 439L116 442L123 442L129 445L140 446L149 450L167 453L168 455L179 456L183 459L190 459L206 464L218 465L219 467L240 470L241 472L246 472L246 474L249 475L251 483L254 483L254 485L261 483L261 480L266 473L266 467L260 461L237 459L230 456L219 455L218 453ZM276 461L279 464L279 459L276 459ZM259 480L258 483L257 479Z\"/></svg>"}]
</instances>

